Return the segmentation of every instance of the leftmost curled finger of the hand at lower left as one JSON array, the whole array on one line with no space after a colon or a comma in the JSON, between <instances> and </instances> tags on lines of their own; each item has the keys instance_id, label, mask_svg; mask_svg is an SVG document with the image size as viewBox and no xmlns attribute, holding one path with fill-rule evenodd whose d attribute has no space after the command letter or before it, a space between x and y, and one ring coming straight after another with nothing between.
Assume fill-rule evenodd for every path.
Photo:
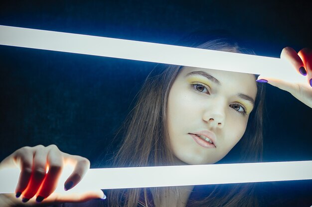
<instances>
[{"instance_id":1,"label":"leftmost curled finger of the hand at lower left","mask_svg":"<svg viewBox=\"0 0 312 207\"><path fill-rule=\"evenodd\" d=\"M16 197L18 198L27 188L30 181L33 163L33 152L30 147L22 147L15 151L13 156L16 164L20 166L20 174L15 189Z\"/></svg>"}]
</instances>

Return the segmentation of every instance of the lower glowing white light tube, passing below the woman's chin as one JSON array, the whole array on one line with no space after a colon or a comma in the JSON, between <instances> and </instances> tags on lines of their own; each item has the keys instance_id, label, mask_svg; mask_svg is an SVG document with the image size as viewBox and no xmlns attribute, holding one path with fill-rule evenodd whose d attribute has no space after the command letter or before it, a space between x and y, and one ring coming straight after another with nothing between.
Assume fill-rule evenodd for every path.
<instances>
[{"instance_id":1,"label":"lower glowing white light tube, passing below the woman's chin","mask_svg":"<svg viewBox=\"0 0 312 207\"><path fill-rule=\"evenodd\" d=\"M312 179L312 161L90 169L69 193L118 188L187 186ZM56 192L64 192L71 169L64 170ZM0 193L13 193L18 169L0 170Z\"/></svg>"}]
</instances>

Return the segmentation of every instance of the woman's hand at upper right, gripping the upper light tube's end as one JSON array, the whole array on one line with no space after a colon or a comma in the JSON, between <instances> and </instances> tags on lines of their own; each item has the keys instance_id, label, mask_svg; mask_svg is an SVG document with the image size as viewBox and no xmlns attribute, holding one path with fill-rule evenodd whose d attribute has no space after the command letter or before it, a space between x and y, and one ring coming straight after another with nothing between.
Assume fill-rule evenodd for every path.
<instances>
[{"instance_id":1,"label":"woman's hand at upper right, gripping the upper light tube's end","mask_svg":"<svg viewBox=\"0 0 312 207\"><path fill-rule=\"evenodd\" d=\"M298 73L307 77L303 83L291 83L286 80L259 75L260 82L268 81L271 85L290 92L298 100L312 108L312 49L304 48L299 53L290 47L283 49L281 59L288 61Z\"/></svg>"}]
</instances>

